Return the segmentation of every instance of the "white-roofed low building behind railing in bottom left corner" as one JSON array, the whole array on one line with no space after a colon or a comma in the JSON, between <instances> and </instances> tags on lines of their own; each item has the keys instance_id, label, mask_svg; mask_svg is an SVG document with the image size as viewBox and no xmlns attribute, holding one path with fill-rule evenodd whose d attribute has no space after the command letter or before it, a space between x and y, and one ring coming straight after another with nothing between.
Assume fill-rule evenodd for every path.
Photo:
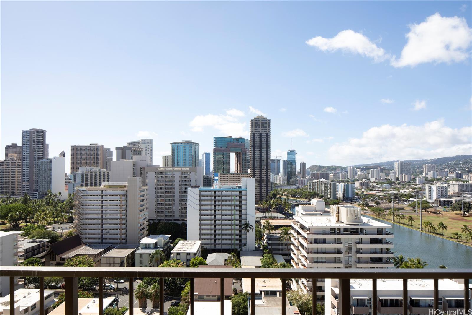
<instances>
[{"instance_id":1,"label":"white-roofed low building behind railing in bottom left corner","mask_svg":"<svg viewBox=\"0 0 472 315\"><path fill-rule=\"evenodd\" d=\"M0 298L0 314L3 315L37 315L39 309L39 289L15 290L15 310L10 309L10 295ZM44 290L44 310L54 304L54 291ZM45 312L46 314L46 312Z\"/></svg>"}]
</instances>

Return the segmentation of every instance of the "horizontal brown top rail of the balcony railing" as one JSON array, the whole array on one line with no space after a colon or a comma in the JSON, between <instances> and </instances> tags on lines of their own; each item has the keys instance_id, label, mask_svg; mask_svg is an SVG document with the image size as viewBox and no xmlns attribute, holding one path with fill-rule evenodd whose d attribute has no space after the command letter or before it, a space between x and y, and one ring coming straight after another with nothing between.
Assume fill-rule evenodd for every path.
<instances>
[{"instance_id":1,"label":"horizontal brown top rail of the balcony railing","mask_svg":"<svg viewBox=\"0 0 472 315\"><path fill-rule=\"evenodd\" d=\"M119 278L472 279L472 269L278 269L1 266L0 276Z\"/></svg>"}]
</instances>

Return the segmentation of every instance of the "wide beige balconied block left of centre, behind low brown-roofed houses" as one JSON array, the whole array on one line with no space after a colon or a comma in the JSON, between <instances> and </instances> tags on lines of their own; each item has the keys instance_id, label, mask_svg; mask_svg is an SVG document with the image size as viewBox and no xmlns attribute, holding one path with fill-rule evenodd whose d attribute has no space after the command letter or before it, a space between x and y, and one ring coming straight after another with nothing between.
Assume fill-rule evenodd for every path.
<instances>
[{"instance_id":1,"label":"wide beige balconied block left of centre, behind low brown-roofed houses","mask_svg":"<svg viewBox=\"0 0 472 315\"><path fill-rule=\"evenodd\" d=\"M83 187L75 193L75 224L85 244L138 244L148 228L148 189L140 177Z\"/></svg>"}]
</instances>

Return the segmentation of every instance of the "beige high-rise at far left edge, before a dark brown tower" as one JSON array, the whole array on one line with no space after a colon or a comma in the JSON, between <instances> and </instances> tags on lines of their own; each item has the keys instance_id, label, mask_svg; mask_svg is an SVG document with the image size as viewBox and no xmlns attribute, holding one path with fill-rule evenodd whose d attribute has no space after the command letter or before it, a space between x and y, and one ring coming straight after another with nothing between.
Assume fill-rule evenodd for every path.
<instances>
[{"instance_id":1,"label":"beige high-rise at far left edge, before a dark brown tower","mask_svg":"<svg viewBox=\"0 0 472 315\"><path fill-rule=\"evenodd\" d=\"M0 161L0 195L21 195L21 154L9 153Z\"/></svg>"}]
</instances>

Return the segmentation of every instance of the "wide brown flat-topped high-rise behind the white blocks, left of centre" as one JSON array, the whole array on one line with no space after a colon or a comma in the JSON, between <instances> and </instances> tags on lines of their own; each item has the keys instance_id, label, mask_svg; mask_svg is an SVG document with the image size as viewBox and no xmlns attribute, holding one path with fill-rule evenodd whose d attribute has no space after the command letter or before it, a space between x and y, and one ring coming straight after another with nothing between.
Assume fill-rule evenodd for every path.
<instances>
[{"instance_id":1,"label":"wide brown flat-topped high-rise behind the white blocks, left of centre","mask_svg":"<svg viewBox=\"0 0 472 315\"><path fill-rule=\"evenodd\" d=\"M78 171L80 166L106 168L108 150L98 143L70 146L70 173Z\"/></svg>"}]
</instances>

